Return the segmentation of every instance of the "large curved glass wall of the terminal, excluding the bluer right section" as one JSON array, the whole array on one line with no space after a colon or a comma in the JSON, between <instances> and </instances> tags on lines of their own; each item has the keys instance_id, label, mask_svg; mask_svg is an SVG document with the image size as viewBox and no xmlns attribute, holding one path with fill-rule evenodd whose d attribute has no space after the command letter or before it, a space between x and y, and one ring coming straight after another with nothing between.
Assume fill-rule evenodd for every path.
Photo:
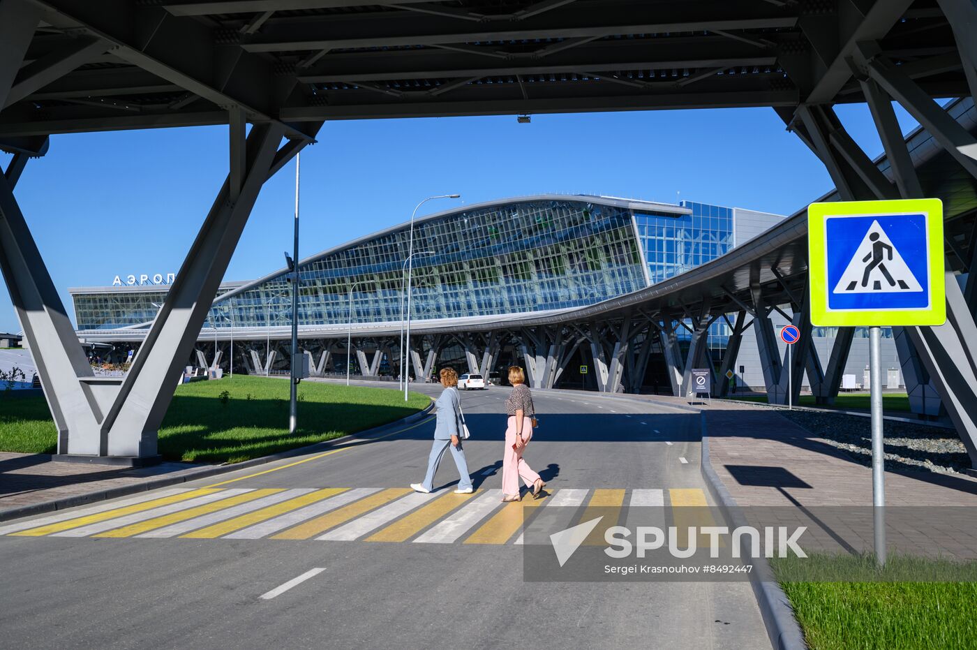
<instances>
[{"instance_id":1,"label":"large curved glass wall of the terminal, excluding the bluer right section","mask_svg":"<svg viewBox=\"0 0 977 650\"><path fill-rule=\"evenodd\" d=\"M408 229L300 267L299 324L402 320ZM645 286L625 208L582 200L493 205L415 222L414 319L449 319L588 305ZM234 325L289 325L289 285L278 277L234 296ZM216 308L227 314L227 305ZM217 318L218 326L228 326Z\"/></svg>"}]
</instances>

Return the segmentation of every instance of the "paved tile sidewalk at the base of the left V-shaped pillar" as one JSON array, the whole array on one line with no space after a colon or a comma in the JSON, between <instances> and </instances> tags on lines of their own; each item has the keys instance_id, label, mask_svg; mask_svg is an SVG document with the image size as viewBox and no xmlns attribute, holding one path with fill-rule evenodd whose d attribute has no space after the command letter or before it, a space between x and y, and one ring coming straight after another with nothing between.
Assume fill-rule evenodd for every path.
<instances>
[{"instance_id":1,"label":"paved tile sidewalk at the base of the left V-shaped pillar","mask_svg":"<svg viewBox=\"0 0 977 650\"><path fill-rule=\"evenodd\" d=\"M34 505L56 498L146 482L160 476L179 476L200 467L185 462L163 462L151 467L113 467L77 462L55 462L46 454L0 453L0 510Z\"/></svg>"}]
</instances>

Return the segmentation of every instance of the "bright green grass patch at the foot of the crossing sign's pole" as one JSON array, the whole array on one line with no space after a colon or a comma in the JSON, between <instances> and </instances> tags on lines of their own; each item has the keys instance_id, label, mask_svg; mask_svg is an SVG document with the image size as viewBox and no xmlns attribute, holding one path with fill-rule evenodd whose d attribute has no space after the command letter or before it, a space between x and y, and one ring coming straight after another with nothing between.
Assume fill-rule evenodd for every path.
<instances>
[{"instance_id":1,"label":"bright green grass patch at the foot of the crossing sign's pole","mask_svg":"<svg viewBox=\"0 0 977 650\"><path fill-rule=\"evenodd\" d=\"M772 562L811 650L977 648L977 563L871 556ZM843 578L842 578L843 576ZM795 582L800 579L845 582ZM877 581L877 582L852 582Z\"/></svg>"}]
</instances>

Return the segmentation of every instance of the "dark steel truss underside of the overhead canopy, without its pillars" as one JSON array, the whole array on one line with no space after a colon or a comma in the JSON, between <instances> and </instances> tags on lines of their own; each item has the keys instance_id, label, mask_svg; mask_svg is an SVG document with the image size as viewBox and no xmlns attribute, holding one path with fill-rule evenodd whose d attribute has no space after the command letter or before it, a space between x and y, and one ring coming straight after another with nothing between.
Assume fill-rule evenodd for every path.
<instances>
[{"instance_id":1,"label":"dark steel truss underside of the overhead canopy, without its pillars","mask_svg":"<svg viewBox=\"0 0 977 650\"><path fill-rule=\"evenodd\" d=\"M10 0L0 0L0 3ZM965 95L934 0L29 0L0 147L276 121L864 101L863 41ZM3 62L0 61L0 65Z\"/></svg>"}]
</instances>

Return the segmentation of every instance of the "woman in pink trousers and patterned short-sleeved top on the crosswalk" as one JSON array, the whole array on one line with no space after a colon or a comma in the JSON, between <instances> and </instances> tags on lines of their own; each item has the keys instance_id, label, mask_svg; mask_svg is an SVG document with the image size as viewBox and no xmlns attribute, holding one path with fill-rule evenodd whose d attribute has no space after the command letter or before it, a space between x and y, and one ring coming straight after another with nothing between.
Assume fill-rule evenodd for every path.
<instances>
[{"instance_id":1,"label":"woman in pink trousers and patterned short-sleeved top on the crosswalk","mask_svg":"<svg viewBox=\"0 0 977 650\"><path fill-rule=\"evenodd\" d=\"M505 451L502 455L502 500L518 501L522 498L519 490L520 476L527 486L532 486L533 497L538 497L546 484L523 459L523 451L532 437L532 423L536 415L523 368L509 368L509 383L514 388L509 399L505 401L509 425L505 430Z\"/></svg>"}]
</instances>

